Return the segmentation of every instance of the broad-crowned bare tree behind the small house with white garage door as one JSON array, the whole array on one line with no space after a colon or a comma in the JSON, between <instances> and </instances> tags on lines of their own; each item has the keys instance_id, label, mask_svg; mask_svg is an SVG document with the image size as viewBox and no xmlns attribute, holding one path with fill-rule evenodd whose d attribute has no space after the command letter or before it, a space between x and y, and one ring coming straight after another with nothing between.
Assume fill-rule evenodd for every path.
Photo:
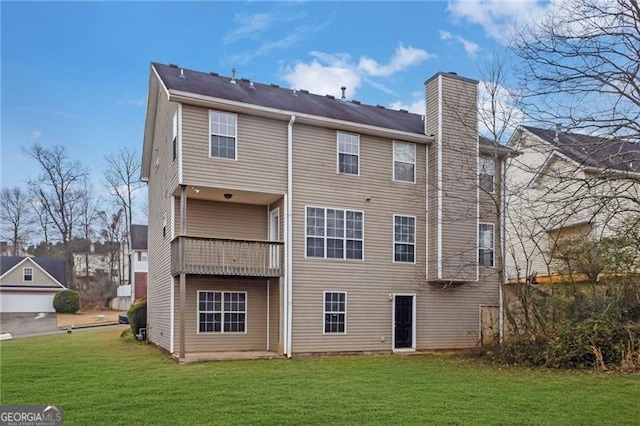
<instances>
[{"instance_id":1,"label":"broad-crowned bare tree behind the small house with white garage door","mask_svg":"<svg viewBox=\"0 0 640 426\"><path fill-rule=\"evenodd\" d=\"M67 277L70 287L74 288L74 261L69 242L81 218L82 185L88 173L80 162L69 159L66 149L59 145L45 148L35 144L24 152L40 166L38 178L28 182L29 189L51 219L62 242L67 258Z\"/></svg>"}]
</instances>

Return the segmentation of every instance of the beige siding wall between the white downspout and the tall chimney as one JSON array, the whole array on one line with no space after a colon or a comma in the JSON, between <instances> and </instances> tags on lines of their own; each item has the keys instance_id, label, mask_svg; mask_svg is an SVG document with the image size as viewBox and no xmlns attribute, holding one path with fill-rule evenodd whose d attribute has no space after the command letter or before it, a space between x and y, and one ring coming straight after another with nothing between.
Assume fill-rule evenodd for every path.
<instances>
[{"instance_id":1,"label":"beige siding wall between the white downspout and the tall chimney","mask_svg":"<svg viewBox=\"0 0 640 426\"><path fill-rule=\"evenodd\" d=\"M389 293L426 285L425 146L408 184L393 181L390 139L360 134L360 176L351 176L336 172L335 130L295 125L293 134L292 352L390 351ZM305 206L362 211L364 260L305 259ZM416 264L393 263L394 214L416 217ZM323 334L324 291L347 292L347 334Z\"/></svg>"}]
</instances>

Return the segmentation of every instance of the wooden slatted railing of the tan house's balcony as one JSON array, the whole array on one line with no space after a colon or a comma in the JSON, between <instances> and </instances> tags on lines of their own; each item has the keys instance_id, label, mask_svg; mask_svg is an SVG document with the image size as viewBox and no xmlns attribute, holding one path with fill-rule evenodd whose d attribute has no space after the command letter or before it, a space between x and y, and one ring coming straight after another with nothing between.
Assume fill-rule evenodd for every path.
<instances>
[{"instance_id":1,"label":"wooden slatted railing of the tan house's balcony","mask_svg":"<svg viewBox=\"0 0 640 426\"><path fill-rule=\"evenodd\" d=\"M171 242L171 273L279 277L283 244L274 241L176 237Z\"/></svg>"}]
</instances>

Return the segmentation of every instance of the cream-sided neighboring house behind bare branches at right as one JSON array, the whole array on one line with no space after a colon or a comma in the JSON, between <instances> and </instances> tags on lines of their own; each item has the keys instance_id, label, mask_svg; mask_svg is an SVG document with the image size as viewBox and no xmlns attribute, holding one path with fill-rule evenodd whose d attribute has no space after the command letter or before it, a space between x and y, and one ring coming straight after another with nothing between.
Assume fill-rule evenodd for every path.
<instances>
[{"instance_id":1,"label":"cream-sided neighboring house behind bare branches at right","mask_svg":"<svg viewBox=\"0 0 640 426\"><path fill-rule=\"evenodd\" d=\"M598 241L640 217L640 144L522 126L509 147L506 273L511 282L562 278L565 238Z\"/></svg>"}]
</instances>

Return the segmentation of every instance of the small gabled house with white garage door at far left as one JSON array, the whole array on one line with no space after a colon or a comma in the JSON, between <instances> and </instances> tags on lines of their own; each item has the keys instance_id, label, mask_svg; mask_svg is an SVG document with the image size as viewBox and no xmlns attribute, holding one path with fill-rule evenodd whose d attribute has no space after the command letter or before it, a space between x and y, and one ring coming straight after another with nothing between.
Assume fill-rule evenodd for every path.
<instances>
[{"instance_id":1,"label":"small gabled house with white garage door at far left","mask_svg":"<svg viewBox=\"0 0 640 426\"><path fill-rule=\"evenodd\" d=\"M0 257L0 313L55 312L66 289L66 263L52 257Z\"/></svg>"}]
</instances>

